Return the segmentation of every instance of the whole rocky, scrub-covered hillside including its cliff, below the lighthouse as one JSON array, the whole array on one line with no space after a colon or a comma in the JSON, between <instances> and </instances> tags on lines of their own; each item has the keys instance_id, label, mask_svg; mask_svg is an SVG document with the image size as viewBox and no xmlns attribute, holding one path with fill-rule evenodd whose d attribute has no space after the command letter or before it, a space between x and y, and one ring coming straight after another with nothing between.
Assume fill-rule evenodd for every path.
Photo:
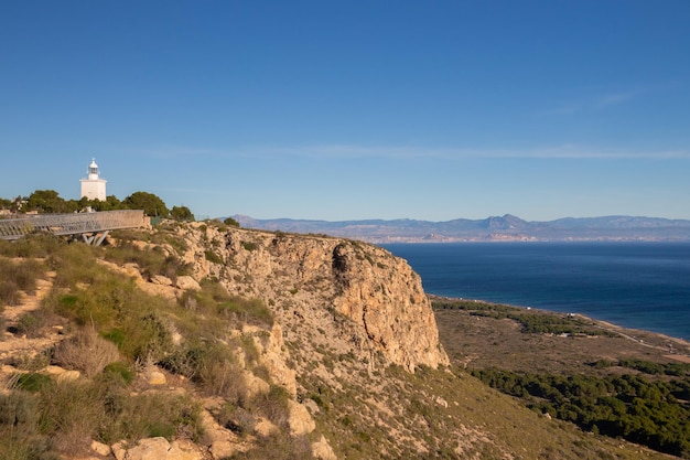
<instances>
[{"instance_id":1,"label":"whole rocky, scrub-covered hillside including its cliff, below the lighthouse","mask_svg":"<svg viewBox=\"0 0 690 460\"><path fill-rule=\"evenodd\" d=\"M381 248L214 223L109 243L0 245L7 279L43 280L3 301L1 458L667 458L450 365Z\"/></svg>"}]
</instances>

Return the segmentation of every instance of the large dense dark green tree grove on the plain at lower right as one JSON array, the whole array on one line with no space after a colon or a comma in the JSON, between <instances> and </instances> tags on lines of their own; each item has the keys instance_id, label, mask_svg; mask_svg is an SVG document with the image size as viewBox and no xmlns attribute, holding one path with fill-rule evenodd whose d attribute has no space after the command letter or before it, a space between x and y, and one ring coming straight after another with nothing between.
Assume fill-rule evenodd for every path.
<instances>
[{"instance_id":1,"label":"large dense dark green tree grove on the plain at lower right","mask_svg":"<svg viewBox=\"0 0 690 460\"><path fill-rule=\"evenodd\" d=\"M690 458L690 381L651 382L643 376L539 375L483 370L473 375L522 398L530 408L587 431L625 438Z\"/></svg>"}]
</instances>

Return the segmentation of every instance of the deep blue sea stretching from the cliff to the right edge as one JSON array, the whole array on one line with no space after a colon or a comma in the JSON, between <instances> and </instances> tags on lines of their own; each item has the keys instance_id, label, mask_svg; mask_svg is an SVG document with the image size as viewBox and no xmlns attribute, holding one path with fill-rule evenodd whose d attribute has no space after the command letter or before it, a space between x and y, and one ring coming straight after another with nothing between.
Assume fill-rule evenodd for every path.
<instances>
[{"instance_id":1,"label":"deep blue sea stretching from the cliff to the right edge","mask_svg":"<svg viewBox=\"0 0 690 460\"><path fill-rule=\"evenodd\" d=\"M389 244L428 293L582 313L690 340L690 243Z\"/></svg>"}]
</instances>

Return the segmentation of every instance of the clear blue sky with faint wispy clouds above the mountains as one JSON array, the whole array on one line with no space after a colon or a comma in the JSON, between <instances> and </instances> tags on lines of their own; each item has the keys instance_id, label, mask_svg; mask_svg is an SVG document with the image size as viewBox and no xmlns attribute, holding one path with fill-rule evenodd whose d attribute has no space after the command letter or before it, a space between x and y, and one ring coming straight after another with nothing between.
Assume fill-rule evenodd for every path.
<instances>
[{"instance_id":1,"label":"clear blue sky with faint wispy clouds above the mountains","mask_svg":"<svg viewBox=\"0 0 690 460\"><path fill-rule=\"evenodd\" d=\"M0 196L690 218L690 1L4 1Z\"/></svg>"}]
</instances>

